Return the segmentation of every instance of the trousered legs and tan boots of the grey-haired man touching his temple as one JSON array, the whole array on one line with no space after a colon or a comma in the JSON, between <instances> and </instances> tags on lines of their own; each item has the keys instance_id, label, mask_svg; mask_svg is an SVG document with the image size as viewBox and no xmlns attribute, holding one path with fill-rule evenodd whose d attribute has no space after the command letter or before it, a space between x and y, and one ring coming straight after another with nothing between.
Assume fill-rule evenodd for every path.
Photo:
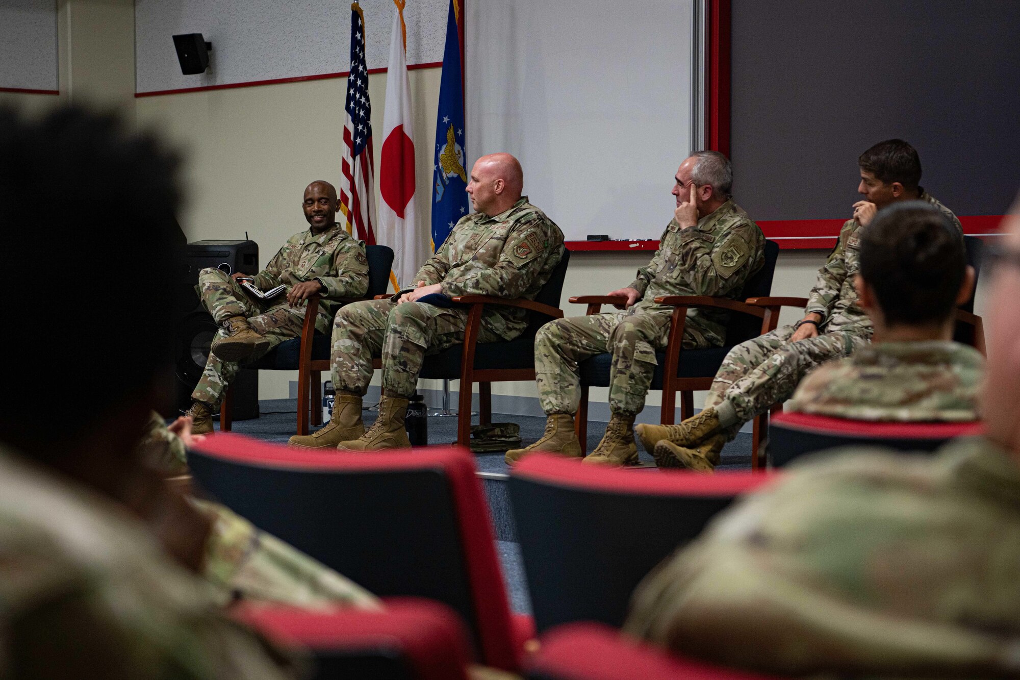
<instances>
[{"instance_id":1,"label":"trousered legs and tan boots of the grey-haired man touching his temple","mask_svg":"<svg viewBox=\"0 0 1020 680\"><path fill-rule=\"evenodd\" d=\"M611 352L609 407L606 434L588 463L627 465L638 462L634 417L645 407L652 384L656 349L666 346L669 313L628 311L558 319L543 326L534 338L534 373L539 399L546 411L546 432L525 448L507 451L513 464L531 451L581 456L574 433L574 415L580 402L580 361ZM684 346L694 342L684 338Z\"/></svg>"}]
</instances>

